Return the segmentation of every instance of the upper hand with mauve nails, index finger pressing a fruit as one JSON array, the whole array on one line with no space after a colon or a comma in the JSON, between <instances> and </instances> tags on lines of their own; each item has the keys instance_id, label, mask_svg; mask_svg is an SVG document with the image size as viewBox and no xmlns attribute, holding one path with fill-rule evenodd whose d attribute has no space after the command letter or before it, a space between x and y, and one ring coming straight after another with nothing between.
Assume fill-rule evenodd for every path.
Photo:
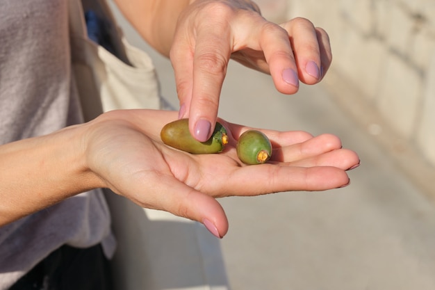
<instances>
[{"instance_id":1,"label":"upper hand with mauve nails, index finger pressing a fruit","mask_svg":"<svg viewBox=\"0 0 435 290\"><path fill-rule=\"evenodd\" d=\"M230 58L271 74L285 94L299 80L318 83L331 64L327 33L307 19L273 24L251 1L196 0L179 16L170 58L180 101L179 117L207 140L217 118L220 91Z\"/></svg>"}]
</instances>

